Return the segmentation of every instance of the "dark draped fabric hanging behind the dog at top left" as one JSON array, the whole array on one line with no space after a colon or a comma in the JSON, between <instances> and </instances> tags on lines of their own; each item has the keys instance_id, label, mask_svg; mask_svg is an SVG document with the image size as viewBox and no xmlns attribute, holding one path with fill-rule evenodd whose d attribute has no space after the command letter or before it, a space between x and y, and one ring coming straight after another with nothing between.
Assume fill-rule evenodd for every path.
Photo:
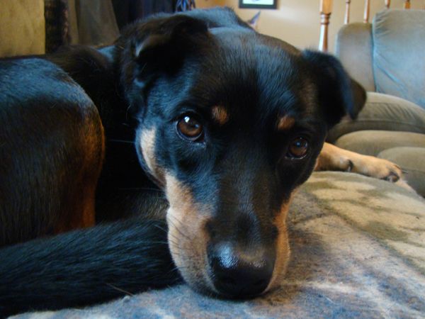
<instances>
[{"instance_id":1,"label":"dark draped fabric hanging behind the dog at top left","mask_svg":"<svg viewBox=\"0 0 425 319\"><path fill-rule=\"evenodd\" d=\"M139 18L194 7L194 0L45 0L46 52L67 44L110 45Z\"/></svg>"}]
</instances>

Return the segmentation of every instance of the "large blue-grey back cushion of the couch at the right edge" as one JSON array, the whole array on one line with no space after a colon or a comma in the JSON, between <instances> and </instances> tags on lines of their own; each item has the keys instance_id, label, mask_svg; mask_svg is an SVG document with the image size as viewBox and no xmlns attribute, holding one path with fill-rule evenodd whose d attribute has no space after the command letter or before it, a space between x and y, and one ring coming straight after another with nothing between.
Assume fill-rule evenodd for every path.
<instances>
[{"instance_id":1,"label":"large blue-grey back cushion of the couch at the right edge","mask_svg":"<svg viewBox=\"0 0 425 319\"><path fill-rule=\"evenodd\" d=\"M376 91L425 108L425 11L381 11L372 32Z\"/></svg>"}]
</instances>

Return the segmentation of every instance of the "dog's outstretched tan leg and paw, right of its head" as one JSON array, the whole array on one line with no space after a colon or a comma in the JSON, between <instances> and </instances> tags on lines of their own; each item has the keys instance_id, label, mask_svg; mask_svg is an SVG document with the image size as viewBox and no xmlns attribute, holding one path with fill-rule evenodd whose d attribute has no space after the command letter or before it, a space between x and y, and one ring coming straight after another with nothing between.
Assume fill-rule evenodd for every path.
<instances>
[{"instance_id":1,"label":"dog's outstretched tan leg and paw, right of its head","mask_svg":"<svg viewBox=\"0 0 425 319\"><path fill-rule=\"evenodd\" d=\"M361 155L324 143L317 158L316 171L344 171L396 182L402 179L402 169L378 157Z\"/></svg>"}]
</instances>

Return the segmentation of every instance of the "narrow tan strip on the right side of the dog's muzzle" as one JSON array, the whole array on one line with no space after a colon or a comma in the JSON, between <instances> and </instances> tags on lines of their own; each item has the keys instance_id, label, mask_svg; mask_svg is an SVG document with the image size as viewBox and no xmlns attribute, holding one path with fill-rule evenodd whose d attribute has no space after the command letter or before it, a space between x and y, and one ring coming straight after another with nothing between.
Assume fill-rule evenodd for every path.
<instances>
[{"instance_id":1,"label":"narrow tan strip on the right side of the dog's muzzle","mask_svg":"<svg viewBox=\"0 0 425 319\"><path fill-rule=\"evenodd\" d=\"M285 275L286 269L288 268L290 247L286 218L288 216L289 206L295 192L296 190L293 191L293 194L291 194L290 199L282 204L282 206L280 207L280 212L274 220L274 225L276 225L276 227L278 228L278 238L276 243L276 262L275 267L273 269L273 275L271 276L271 281L264 292L279 286L280 281Z\"/></svg>"}]
</instances>

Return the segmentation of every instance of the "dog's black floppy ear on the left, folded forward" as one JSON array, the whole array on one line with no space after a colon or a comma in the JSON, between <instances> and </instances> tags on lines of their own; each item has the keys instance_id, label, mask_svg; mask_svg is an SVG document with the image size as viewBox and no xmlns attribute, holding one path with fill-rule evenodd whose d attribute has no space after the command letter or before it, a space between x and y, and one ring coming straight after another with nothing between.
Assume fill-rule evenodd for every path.
<instances>
[{"instance_id":1,"label":"dog's black floppy ear on the left, folded forward","mask_svg":"<svg viewBox=\"0 0 425 319\"><path fill-rule=\"evenodd\" d=\"M115 42L120 86L130 103L126 111L142 116L154 81L173 76L191 56L200 56L210 38L203 20L184 15L159 14L128 26Z\"/></svg>"}]
</instances>

